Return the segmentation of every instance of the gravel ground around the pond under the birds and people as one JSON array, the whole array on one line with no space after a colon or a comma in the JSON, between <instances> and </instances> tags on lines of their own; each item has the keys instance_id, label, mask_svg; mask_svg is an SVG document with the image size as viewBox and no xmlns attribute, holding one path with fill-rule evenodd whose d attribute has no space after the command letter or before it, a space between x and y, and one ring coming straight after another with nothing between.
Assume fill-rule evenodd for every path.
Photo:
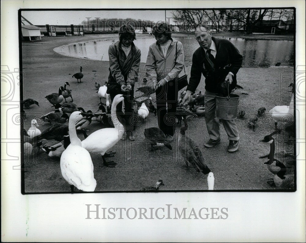
<instances>
[{"instance_id":1,"label":"gravel ground around the pond under the birds and people","mask_svg":"<svg viewBox=\"0 0 306 243\"><path fill-rule=\"evenodd\" d=\"M32 117L44 115L53 111L46 95L58 92L59 86L70 83L73 100L85 110L96 110L99 97L95 89L95 82L101 85L108 78L108 62L72 58L60 55L53 51L54 47L63 44L95 40L100 38L117 38L117 35L92 35L73 37L45 37L42 41L22 43L22 61L24 71L24 99L33 98L39 102L39 107L24 108L27 119L24 123L28 129ZM174 35L175 38L175 35ZM71 76L83 67L83 83L78 84ZM140 66L144 68L144 63ZM190 74L190 66L186 73ZM95 70L95 72L93 71ZM243 91L236 90L240 95L238 110L246 112L245 119L236 119L240 132L240 146L236 153L227 153L228 140L221 125L221 143L214 148L207 149L203 143L208 139L205 118L198 118L188 128L188 135L198 142L203 157L215 176L216 190L267 190L274 189L267 184L272 174L263 164L267 159L259 159L268 154L269 144L259 142L265 135L271 133L274 122L269 114L259 118L259 122L252 131L247 126L251 117L256 117L259 107L268 111L275 105L285 105L290 102L288 85L289 80L280 82L284 68L241 68L237 74L238 84L244 87ZM190 76L190 75L188 75ZM141 80L141 78L140 78ZM136 87L137 87L136 83ZM204 80L200 82L197 91L204 92ZM243 95L241 92L248 93ZM102 101L103 102L103 101ZM48 124L41 124L39 129L44 130ZM173 150L162 147L156 152L147 152L147 143L143 131L146 127L157 127L157 119L150 113L147 123L137 127L134 135L136 141L120 141L112 150L116 151L114 161L116 168L103 166L99 154L91 154L94 164L94 174L97 180L96 192L102 191L138 191L144 186L154 186L159 179L164 181L162 191L170 190L207 190L207 176L195 170L180 169L184 161L177 151L177 141ZM99 123L91 123L88 134L102 128ZM178 132L176 133L178 136ZM278 146L285 146L293 151L293 145L283 144L279 135L275 136ZM80 139L84 139L80 135ZM177 139L175 139L177 140ZM109 159L109 158L108 158ZM50 158L43 151L36 154L36 158L25 160L25 192L69 192L69 184L63 179L59 166L59 158Z\"/></svg>"}]
</instances>

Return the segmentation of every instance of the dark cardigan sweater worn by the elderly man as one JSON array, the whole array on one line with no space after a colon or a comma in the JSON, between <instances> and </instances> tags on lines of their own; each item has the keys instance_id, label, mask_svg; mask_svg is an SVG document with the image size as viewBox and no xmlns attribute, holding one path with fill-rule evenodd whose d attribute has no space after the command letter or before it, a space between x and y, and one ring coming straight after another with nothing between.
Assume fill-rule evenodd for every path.
<instances>
[{"instance_id":1,"label":"dark cardigan sweater worn by the elderly man","mask_svg":"<svg viewBox=\"0 0 306 243\"><path fill-rule=\"evenodd\" d=\"M205 51L202 47L196 49L192 56L192 66L190 79L186 90L195 92L201 79L201 74L205 77L205 90L213 93L220 93L220 84L225 80L229 72L234 74L231 89L237 84L236 74L242 64L242 55L237 48L226 39L211 37L216 44L217 54L215 57L215 69L205 59Z\"/></svg>"}]
</instances>

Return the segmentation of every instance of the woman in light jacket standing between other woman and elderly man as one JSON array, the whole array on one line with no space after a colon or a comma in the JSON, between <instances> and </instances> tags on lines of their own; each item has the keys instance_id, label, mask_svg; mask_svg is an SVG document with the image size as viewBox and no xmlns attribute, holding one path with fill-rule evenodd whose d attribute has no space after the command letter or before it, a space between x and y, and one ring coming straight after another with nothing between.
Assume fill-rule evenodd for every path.
<instances>
[{"instance_id":1,"label":"woman in light jacket standing between other woman and elderly man","mask_svg":"<svg viewBox=\"0 0 306 243\"><path fill-rule=\"evenodd\" d=\"M147 57L147 75L156 93L158 126L173 141L173 115L177 106L176 78L183 70L184 51L181 42L171 38L171 28L166 22L158 22L152 29L156 42L151 44Z\"/></svg>"}]
</instances>

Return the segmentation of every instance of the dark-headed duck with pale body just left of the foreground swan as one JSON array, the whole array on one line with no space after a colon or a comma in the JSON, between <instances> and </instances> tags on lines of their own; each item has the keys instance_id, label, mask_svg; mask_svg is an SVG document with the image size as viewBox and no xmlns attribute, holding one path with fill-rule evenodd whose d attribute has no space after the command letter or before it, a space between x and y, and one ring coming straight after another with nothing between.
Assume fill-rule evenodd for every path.
<instances>
[{"instance_id":1,"label":"dark-headed duck with pale body just left of the foreground swan","mask_svg":"<svg viewBox=\"0 0 306 243\"><path fill-rule=\"evenodd\" d=\"M64 150L70 144L69 133L67 132L64 135L64 140L58 142L56 140L48 140L46 143L42 145L42 150L48 154L49 157L61 157Z\"/></svg>"}]
</instances>

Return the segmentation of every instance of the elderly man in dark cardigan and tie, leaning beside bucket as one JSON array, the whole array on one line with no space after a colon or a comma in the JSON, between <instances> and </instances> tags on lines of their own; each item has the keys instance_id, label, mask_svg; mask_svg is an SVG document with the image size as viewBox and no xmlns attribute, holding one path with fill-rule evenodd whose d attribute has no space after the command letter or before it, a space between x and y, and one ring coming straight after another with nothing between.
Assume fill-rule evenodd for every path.
<instances>
[{"instance_id":1,"label":"elderly man in dark cardigan and tie, leaning beside bucket","mask_svg":"<svg viewBox=\"0 0 306 243\"><path fill-rule=\"evenodd\" d=\"M242 55L237 48L225 39L211 36L207 26L196 28L196 40L200 47L193 53L189 84L182 103L186 103L195 92L201 79L205 77L205 120L210 139L204 143L207 148L220 143L220 123L216 117L217 93L222 93L226 85L232 90L236 84L236 74L242 64ZM234 120L222 120L230 140L228 152L235 152L239 145L239 133Z\"/></svg>"}]
</instances>

